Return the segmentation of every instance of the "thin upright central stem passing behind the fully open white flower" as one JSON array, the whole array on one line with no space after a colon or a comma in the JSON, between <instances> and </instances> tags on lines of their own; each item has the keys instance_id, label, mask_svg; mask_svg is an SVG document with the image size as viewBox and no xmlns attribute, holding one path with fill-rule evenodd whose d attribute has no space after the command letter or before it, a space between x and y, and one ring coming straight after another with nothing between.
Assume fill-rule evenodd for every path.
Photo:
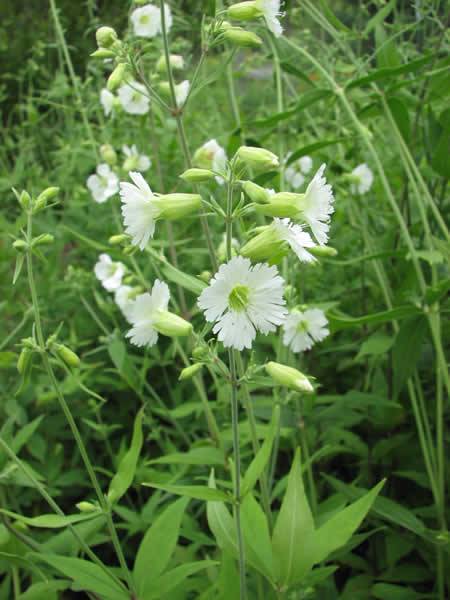
<instances>
[{"instance_id":1,"label":"thin upright central stem passing behind the fully open white flower","mask_svg":"<svg viewBox=\"0 0 450 600\"><path fill-rule=\"evenodd\" d=\"M231 260L231 246L233 235L233 171L230 173L227 190L227 218L226 218L226 246L227 259ZM245 582L245 551L241 527L241 451L239 445L239 402L238 382L236 374L236 356L233 348L228 350L228 362L231 375L231 427L233 432L233 459L234 459L234 518L236 521L236 533L239 550L239 583L240 598L247 598L247 587Z\"/></svg>"}]
</instances>

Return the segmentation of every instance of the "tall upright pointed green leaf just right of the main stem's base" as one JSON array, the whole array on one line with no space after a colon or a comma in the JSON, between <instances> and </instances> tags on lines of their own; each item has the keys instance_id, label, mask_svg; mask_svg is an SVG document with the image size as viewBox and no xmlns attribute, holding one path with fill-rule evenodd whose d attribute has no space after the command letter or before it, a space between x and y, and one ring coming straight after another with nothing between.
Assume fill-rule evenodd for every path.
<instances>
[{"instance_id":1,"label":"tall upright pointed green leaf just right of the main stem's base","mask_svg":"<svg viewBox=\"0 0 450 600\"><path fill-rule=\"evenodd\" d=\"M278 583L289 585L305 575L305 536L314 532L314 521L303 487L300 451L295 453L288 484L272 536Z\"/></svg>"}]
</instances>

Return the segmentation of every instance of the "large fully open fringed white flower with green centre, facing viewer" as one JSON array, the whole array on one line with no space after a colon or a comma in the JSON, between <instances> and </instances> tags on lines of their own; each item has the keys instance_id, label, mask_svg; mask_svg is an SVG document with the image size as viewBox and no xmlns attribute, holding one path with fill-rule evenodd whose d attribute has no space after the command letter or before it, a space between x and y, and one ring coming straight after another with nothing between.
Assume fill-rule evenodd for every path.
<instances>
[{"instance_id":1,"label":"large fully open fringed white flower with green centre, facing viewer","mask_svg":"<svg viewBox=\"0 0 450 600\"><path fill-rule=\"evenodd\" d=\"M215 321L213 332L225 347L251 348L259 330L275 331L286 317L283 279L276 267L251 265L242 256L221 265L198 299L207 321Z\"/></svg>"}]
</instances>

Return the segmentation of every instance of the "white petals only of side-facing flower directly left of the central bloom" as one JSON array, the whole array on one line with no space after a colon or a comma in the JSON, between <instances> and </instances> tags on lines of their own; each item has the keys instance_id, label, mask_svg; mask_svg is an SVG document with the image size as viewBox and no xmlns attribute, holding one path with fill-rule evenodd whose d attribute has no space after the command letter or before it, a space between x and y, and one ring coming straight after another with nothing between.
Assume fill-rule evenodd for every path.
<instances>
[{"instance_id":1,"label":"white petals only of side-facing flower directly left of the central bloom","mask_svg":"<svg viewBox=\"0 0 450 600\"><path fill-rule=\"evenodd\" d=\"M154 319L160 311L166 311L170 292L167 284L155 280L151 293L137 296L127 317L133 327L127 333L131 343L136 346L154 346L158 341L158 332L153 327Z\"/></svg>"}]
</instances>

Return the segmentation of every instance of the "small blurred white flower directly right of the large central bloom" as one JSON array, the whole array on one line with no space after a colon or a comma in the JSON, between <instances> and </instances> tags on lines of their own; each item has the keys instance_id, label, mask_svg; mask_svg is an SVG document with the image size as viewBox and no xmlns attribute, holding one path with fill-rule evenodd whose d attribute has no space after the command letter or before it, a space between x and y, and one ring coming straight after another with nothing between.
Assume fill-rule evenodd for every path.
<instances>
[{"instance_id":1,"label":"small blurred white flower directly right of the large central bloom","mask_svg":"<svg viewBox=\"0 0 450 600\"><path fill-rule=\"evenodd\" d=\"M293 310L284 324L283 343L293 352L310 350L329 335L328 320L319 308Z\"/></svg>"}]
</instances>

